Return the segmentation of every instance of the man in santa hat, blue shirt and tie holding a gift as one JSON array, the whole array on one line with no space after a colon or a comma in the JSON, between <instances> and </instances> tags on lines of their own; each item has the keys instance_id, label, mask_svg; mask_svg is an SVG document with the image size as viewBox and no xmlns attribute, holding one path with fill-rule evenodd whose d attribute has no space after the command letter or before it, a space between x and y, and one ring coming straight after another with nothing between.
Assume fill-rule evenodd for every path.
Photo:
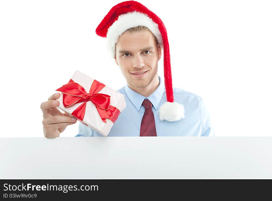
<instances>
[{"instance_id":1,"label":"man in santa hat, blue shirt and tie holding a gift","mask_svg":"<svg viewBox=\"0 0 272 201\"><path fill-rule=\"evenodd\" d=\"M172 88L169 44L163 22L157 15L135 1L114 6L96 28L107 37L127 85L126 108L108 136L214 136L210 116L202 98L188 91ZM158 61L164 48L164 83L158 76ZM60 94L41 104L44 135L59 137L66 126L76 122L56 107ZM176 102L174 102L174 97ZM79 124L79 136L103 136Z\"/></svg>"}]
</instances>

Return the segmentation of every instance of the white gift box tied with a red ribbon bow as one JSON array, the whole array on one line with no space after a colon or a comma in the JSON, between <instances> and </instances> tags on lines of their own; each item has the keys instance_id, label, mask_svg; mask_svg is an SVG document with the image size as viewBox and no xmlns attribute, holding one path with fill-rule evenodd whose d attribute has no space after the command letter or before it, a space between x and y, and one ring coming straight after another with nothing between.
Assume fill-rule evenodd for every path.
<instances>
[{"instance_id":1,"label":"white gift box tied with a red ribbon bow","mask_svg":"<svg viewBox=\"0 0 272 201\"><path fill-rule=\"evenodd\" d=\"M103 136L126 106L123 94L78 70L56 91L61 92L58 108Z\"/></svg>"}]
</instances>

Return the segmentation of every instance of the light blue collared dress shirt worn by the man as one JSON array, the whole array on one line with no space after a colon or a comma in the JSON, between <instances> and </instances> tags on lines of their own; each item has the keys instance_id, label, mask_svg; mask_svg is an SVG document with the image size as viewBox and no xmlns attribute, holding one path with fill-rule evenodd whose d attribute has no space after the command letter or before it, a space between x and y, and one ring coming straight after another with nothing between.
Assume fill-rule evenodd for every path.
<instances>
[{"instance_id":1,"label":"light blue collared dress shirt worn by the man","mask_svg":"<svg viewBox=\"0 0 272 201\"><path fill-rule=\"evenodd\" d=\"M140 136L140 127L145 108L142 102L148 98L152 103L157 136L215 136L209 112L202 98L180 88L173 88L174 100L184 105L185 118L178 121L159 120L159 108L166 102L165 86L159 76L159 87L148 97L136 93L126 84L117 90L124 94L126 107L118 116L109 134L110 136ZM79 123L75 137L104 137L93 129Z\"/></svg>"}]
</instances>

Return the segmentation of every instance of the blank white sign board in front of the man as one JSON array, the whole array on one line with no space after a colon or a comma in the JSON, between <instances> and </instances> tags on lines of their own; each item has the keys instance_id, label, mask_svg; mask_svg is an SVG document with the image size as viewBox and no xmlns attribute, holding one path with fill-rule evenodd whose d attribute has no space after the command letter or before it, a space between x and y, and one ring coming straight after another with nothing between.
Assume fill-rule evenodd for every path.
<instances>
[{"instance_id":1,"label":"blank white sign board in front of the man","mask_svg":"<svg viewBox=\"0 0 272 201\"><path fill-rule=\"evenodd\" d=\"M0 179L266 179L271 137L1 138Z\"/></svg>"}]
</instances>

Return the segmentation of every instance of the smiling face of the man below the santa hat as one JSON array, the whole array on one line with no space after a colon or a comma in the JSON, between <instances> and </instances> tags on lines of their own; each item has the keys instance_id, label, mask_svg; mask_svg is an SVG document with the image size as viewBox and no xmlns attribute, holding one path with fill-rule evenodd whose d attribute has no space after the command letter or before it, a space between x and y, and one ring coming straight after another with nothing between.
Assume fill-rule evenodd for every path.
<instances>
[{"instance_id":1,"label":"smiling face of the man below the santa hat","mask_svg":"<svg viewBox=\"0 0 272 201\"><path fill-rule=\"evenodd\" d=\"M115 62L130 88L147 87L152 83L158 76L160 57L161 49L157 48L153 34L148 30L125 32L116 43Z\"/></svg>"}]
</instances>

